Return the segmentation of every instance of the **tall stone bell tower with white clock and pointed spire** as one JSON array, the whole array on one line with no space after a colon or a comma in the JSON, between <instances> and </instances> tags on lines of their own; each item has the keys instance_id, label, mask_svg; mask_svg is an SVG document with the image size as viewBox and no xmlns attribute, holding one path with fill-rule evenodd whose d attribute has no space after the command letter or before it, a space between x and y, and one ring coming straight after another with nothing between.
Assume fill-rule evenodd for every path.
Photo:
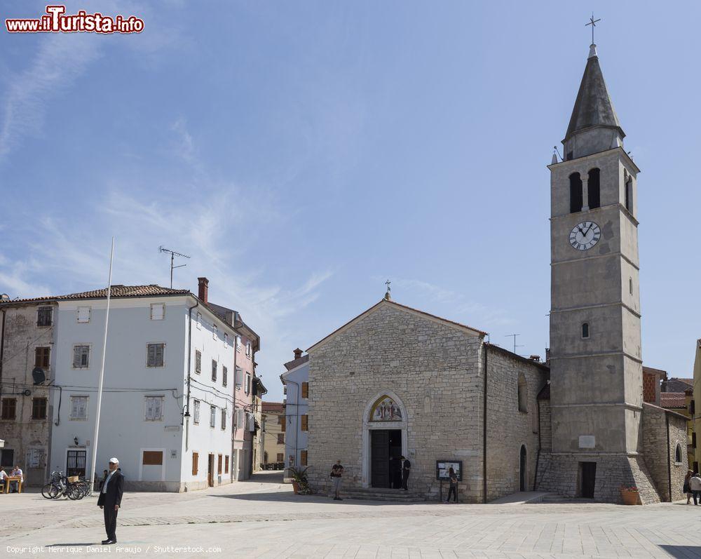
<instances>
[{"instance_id":1,"label":"tall stone bell tower with white clock and pointed spire","mask_svg":"<svg viewBox=\"0 0 701 559\"><path fill-rule=\"evenodd\" d=\"M549 166L552 454L540 488L605 501L649 485L638 454L639 169L624 137L592 44L564 161Z\"/></svg>"}]
</instances>

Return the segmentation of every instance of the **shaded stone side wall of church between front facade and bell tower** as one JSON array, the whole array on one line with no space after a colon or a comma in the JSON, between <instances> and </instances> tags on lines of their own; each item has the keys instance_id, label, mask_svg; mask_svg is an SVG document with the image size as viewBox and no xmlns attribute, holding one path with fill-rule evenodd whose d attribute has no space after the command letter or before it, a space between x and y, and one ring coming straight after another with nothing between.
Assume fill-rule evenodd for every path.
<instances>
[{"instance_id":1,"label":"shaded stone side wall of church between front facade and bell tower","mask_svg":"<svg viewBox=\"0 0 701 559\"><path fill-rule=\"evenodd\" d=\"M521 447L526 446L526 491L533 490L538 459L536 396L547 377L535 363L489 347L487 356L487 501L520 490ZM526 411L519 411L519 375L526 379Z\"/></svg>"}]
</instances>

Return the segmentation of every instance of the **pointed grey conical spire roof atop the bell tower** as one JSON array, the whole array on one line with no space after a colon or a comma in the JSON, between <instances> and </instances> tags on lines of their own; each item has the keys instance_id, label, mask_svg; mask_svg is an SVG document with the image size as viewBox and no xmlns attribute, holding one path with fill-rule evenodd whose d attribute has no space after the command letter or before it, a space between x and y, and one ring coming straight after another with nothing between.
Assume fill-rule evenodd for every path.
<instances>
[{"instance_id":1,"label":"pointed grey conical spire roof atop the bell tower","mask_svg":"<svg viewBox=\"0 0 701 559\"><path fill-rule=\"evenodd\" d=\"M579 130L591 128L592 126L607 126L617 128L621 137L625 137L623 129L620 127L618 116L615 114L611 95L608 95L604 74L599 66L599 56L596 45L592 45L587 67L584 69L582 82L577 93L577 100L572 109L565 141Z\"/></svg>"}]
</instances>

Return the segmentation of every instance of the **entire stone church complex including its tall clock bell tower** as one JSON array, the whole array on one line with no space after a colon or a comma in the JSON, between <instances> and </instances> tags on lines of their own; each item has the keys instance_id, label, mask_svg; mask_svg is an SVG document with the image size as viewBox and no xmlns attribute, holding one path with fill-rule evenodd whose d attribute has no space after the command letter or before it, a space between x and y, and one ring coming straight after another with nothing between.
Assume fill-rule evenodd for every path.
<instances>
[{"instance_id":1,"label":"entire stone church complex including its tall clock bell tower","mask_svg":"<svg viewBox=\"0 0 701 559\"><path fill-rule=\"evenodd\" d=\"M422 499L458 474L463 502L519 491L641 504L681 499L686 418L644 402L637 175L592 44L551 173L550 352L545 363L486 332L387 295L308 349L308 478ZM444 495L445 493L443 493Z\"/></svg>"}]
</instances>

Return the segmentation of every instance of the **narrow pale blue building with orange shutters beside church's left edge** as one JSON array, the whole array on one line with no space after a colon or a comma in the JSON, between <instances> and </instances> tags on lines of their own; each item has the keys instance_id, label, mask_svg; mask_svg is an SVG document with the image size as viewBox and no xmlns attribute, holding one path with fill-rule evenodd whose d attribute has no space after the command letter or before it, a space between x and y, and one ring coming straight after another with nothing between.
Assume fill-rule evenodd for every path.
<instances>
[{"instance_id":1,"label":"narrow pale blue building with orange shutters beside church's left edge","mask_svg":"<svg viewBox=\"0 0 701 559\"><path fill-rule=\"evenodd\" d=\"M291 466L307 465L307 417L309 396L309 356L294 350L294 359L285 363L287 372L280 375L285 385L285 478Z\"/></svg>"}]
</instances>

